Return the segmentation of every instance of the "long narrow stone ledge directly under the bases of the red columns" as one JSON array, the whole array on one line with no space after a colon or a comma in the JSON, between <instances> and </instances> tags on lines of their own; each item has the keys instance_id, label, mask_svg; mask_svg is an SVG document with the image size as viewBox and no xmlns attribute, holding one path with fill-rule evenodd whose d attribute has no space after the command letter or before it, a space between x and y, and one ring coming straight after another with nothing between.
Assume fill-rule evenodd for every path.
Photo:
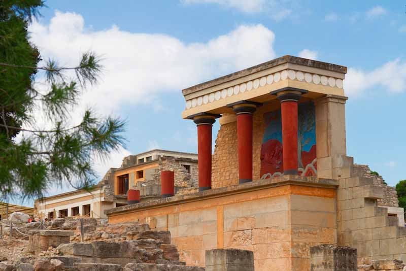
<instances>
[{"instance_id":1,"label":"long narrow stone ledge directly under the bases of the red columns","mask_svg":"<svg viewBox=\"0 0 406 271\"><path fill-rule=\"evenodd\" d=\"M164 206L173 206L183 204L186 202L193 202L197 200L204 200L208 198L219 198L227 195L240 194L244 192L262 190L272 187L279 187L284 185L298 185L298 186L311 186L336 189L339 186L337 180L320 179L316 177L303 177L298 175L282 175L272 179L262 179L244 184L231 185L210 189L206 191L175 195L167 198L159 198L148 202L141 202L139 204L120 206L105 211L107 215L119 215L126 212L142 211L148 209L161 208Z\"/></svg>"}]
</instances>

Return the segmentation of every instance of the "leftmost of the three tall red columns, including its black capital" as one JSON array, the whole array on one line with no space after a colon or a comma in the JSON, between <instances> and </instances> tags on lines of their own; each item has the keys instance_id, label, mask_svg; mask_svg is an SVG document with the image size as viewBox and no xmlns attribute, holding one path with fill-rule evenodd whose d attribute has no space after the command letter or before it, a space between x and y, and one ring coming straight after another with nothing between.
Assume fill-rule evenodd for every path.
<instances>
[{"instance_id":1,"label":"leftmost of the three tall red columns, including its black capital","mask_svg":"<svg viewBox=\"0 0 406 271\"><path fill-rule=\"evenodd\" d=\"M199 113L192 118L197 124L197 159L199 191L212 189L212 126L219 115Z\"/></svg>"}]
</instances>

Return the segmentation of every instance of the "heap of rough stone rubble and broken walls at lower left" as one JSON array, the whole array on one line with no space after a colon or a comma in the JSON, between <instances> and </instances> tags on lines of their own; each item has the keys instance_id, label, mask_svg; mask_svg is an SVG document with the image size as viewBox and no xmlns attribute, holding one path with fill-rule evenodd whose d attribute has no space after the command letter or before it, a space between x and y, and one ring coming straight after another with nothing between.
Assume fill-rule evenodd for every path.
<instances>
[{"instance_id":1,"label":"heap of rough stone rubble and broken walls at lower left","mask_svg":"<svg viewBox=\"0 0 406 271\"><path fill-rule=\"evenodd\" d=\"M204 271L204 267L186 266L180 261L176 246L171 244L169 231L152 231L148 224L126 222L108 224L106 221L84 218L85 243L80 243L80 220L55 219L47 229L32 230L49 239L46 250L32 249L34 254L21 253L10 263L0 262L0 271ZM56 230L53 230L56 229ZM72 232L71 243L56 244L54 236ZM37 232L37 233L35 233ZM55 234L52 234L55 232ZM78 234L79 233L79 234ZM64 234L66 235L66 234ZM24 251L40 246L29 244ZM51 245L52 244L52 245ZM44 244L41 244L44 245ZM2 258L7 260L7 257Z\"/></svg>"}]
</instances>

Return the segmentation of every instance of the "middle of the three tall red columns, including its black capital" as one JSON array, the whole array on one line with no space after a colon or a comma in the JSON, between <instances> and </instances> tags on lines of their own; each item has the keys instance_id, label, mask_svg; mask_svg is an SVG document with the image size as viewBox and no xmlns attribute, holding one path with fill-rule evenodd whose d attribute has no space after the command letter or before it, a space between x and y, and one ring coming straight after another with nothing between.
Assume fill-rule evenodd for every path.
<instances>
[{"instance_id":1,"label":"middle of the three tall red columns, including its black capital","mask_svg":"<svg viewBox=\"0 0 406 271\"><path fill-rule=\"evenodd\" d=\"M252 182L252 114L259 103L238 101L227 105L237 115L239 183Z\"/></svg>"}]
</instances>

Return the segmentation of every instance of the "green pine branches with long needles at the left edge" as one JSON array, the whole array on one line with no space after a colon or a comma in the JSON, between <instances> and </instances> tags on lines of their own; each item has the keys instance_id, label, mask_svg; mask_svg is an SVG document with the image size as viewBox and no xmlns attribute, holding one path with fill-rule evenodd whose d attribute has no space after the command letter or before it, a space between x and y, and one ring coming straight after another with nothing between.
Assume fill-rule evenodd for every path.
<instances>
[{"instance_id":1,"label":"green pine branches with long needles at the left edge","mask_svg":"<svg viewBox=\"0 0 406 271\"><path fill-rule=\"evenodd\" d=\"M73 67L54 59L39 66L27 26L41 7L42 0L0 0L0 198L42 197L65 182L90 189L96 178L92 159L106 158L124 143L119 118L100 118L89 109L70 125L70 112L86 86L97 84L103 66L93 52ZM38 108L47 128L37 128Z\"/></svg>"}]
</instances>

